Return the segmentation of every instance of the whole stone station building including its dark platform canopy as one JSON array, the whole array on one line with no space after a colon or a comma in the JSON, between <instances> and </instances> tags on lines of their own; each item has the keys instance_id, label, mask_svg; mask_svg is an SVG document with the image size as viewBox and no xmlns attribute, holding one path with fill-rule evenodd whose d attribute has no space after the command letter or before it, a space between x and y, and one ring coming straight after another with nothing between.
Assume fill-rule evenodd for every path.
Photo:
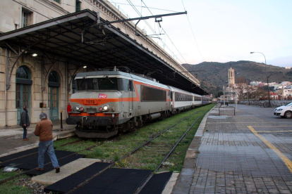
<instances>
[{"instance_id":1,"label":"whole stone station building including its dark platform canopy","mask_svg":"<svg viewBox=\"0 0 292 194\"><path fill-rule=\"evenodd\" d=\"M109 66L141 74L159 69L161 83L207 94L133 22L107 23L127 19L108 1L3 0L0 5L0 127L19 124L24 105L32 123L40 112L65 119L74 76Z\"/></svg>"}]
</instances>

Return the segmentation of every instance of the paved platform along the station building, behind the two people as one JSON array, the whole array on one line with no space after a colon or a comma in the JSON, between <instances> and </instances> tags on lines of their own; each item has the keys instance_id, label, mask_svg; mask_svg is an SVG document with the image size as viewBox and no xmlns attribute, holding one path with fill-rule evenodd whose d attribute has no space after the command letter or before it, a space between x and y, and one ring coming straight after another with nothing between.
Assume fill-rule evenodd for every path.
<instances>
[{"instance_id":1,"label":"paved platform along the station building, behind the two people","mask_svg":"<svg viewBox=\"0 0 292 194\"><path fill-rule=\"evenodd\" d=\"M58 138L66 138L68 136L75 136L75 125L68 125L65 121L52 121L54 140ZM38 146L39 137L35 136L35 126L37 124L30 124L28 127L28 141L23 141L23 127L0 127L0 157L10 155L23 150L28 150Z\"/></svg>"}]
</instances>

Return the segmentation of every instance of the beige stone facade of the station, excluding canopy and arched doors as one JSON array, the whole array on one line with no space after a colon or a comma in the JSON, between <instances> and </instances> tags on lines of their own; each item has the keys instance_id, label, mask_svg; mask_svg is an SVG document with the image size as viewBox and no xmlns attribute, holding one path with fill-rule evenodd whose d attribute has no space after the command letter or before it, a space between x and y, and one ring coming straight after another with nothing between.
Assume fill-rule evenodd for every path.
<instances>
[{"instance_id":1,"label":"beige stone facade of the station, excluding canopy and arched doors","mask_svg":"<svg viewBox=\"0 0 292 194\"><path fill-rule=\"evenodd\" d=\"M99 12L100 17L105 20L126 19L126 15L123 15L108 1L79 0L79 2L81 3L81 9ZM28 25L33 25L44 20L74 13L75 3L76 1L72 0L61 0L61 4L54 0L3 0L0 2L0 32L10 32L23 27L25 24L23 18L25 17L27 17L26 22ZM26 16L23 14L26 14ZM137 44L142 44L148 48L158 58L164 60L171 67L178 70L178 72L187 71L152 39L136 36L135 24L133 22L119 22L113 25L118 27L121 32L135 39ZM142 30L137 30L139 33L142 33ZM23 54L18 58L19 53L21 51L0 48L0 127L18 124L20 109L16 108L16 99L18 98L16 96L18 93L16 89L16 71L19 67L25 67L28 70L30 80L32 81L29 92L31 122L39 121L40 112L46 112L49 116L48 80L51 72L55 72L59 79L58 111L63 111L63 118L66 118L66 104L72 94L72 76L77 72L83 71L83 68L76 71L75 69L73 70L74 67L71 67L71 64L63 62L65 60L52 61L48 58L33 58L28 54ZM48 57L54 58L54 56ZM14 63L15 65L13 65ZM182 74L193 82L199 83L189 72L183 72ZM40 103L44 104L42 108L40 108Z\"/></svg>"}]
</instances>

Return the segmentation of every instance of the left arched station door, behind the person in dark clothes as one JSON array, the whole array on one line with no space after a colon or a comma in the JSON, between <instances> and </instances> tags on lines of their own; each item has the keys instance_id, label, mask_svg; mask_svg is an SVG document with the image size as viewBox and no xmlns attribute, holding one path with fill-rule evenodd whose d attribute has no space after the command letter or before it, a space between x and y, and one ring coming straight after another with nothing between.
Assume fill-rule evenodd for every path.
<instances>
[{"instance_id":1,"label":"left arched station door, behind the person in dark clothes","mask_svg":"<svg viewBox=\"0 0 292 194\"><path fill-rule=\"evenodd\" d=\"M20 66L16 70L16 110L17 123L20 123L20 115L23 112L23 106L28 106L28 115L30 116L30 71L25 66Z\"/></svg>"}]
</instances>

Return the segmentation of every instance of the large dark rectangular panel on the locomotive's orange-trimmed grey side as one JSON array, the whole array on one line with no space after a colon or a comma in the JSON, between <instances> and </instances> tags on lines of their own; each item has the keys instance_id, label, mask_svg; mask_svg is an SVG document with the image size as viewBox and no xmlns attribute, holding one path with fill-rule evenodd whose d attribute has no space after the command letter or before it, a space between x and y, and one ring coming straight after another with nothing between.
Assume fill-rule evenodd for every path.
<instances>
[{"instance_id":1,"label":"large dark rectangular panel on the locomotive's orange-trimmed grey side","mask_svg":"<svg viewBox=\"0 0 292 194\"><path fill-rule=\"evenodd\" d=\"M166 91L141 86L141 101L166 101Z\"/></svg>"}]
</instances>

